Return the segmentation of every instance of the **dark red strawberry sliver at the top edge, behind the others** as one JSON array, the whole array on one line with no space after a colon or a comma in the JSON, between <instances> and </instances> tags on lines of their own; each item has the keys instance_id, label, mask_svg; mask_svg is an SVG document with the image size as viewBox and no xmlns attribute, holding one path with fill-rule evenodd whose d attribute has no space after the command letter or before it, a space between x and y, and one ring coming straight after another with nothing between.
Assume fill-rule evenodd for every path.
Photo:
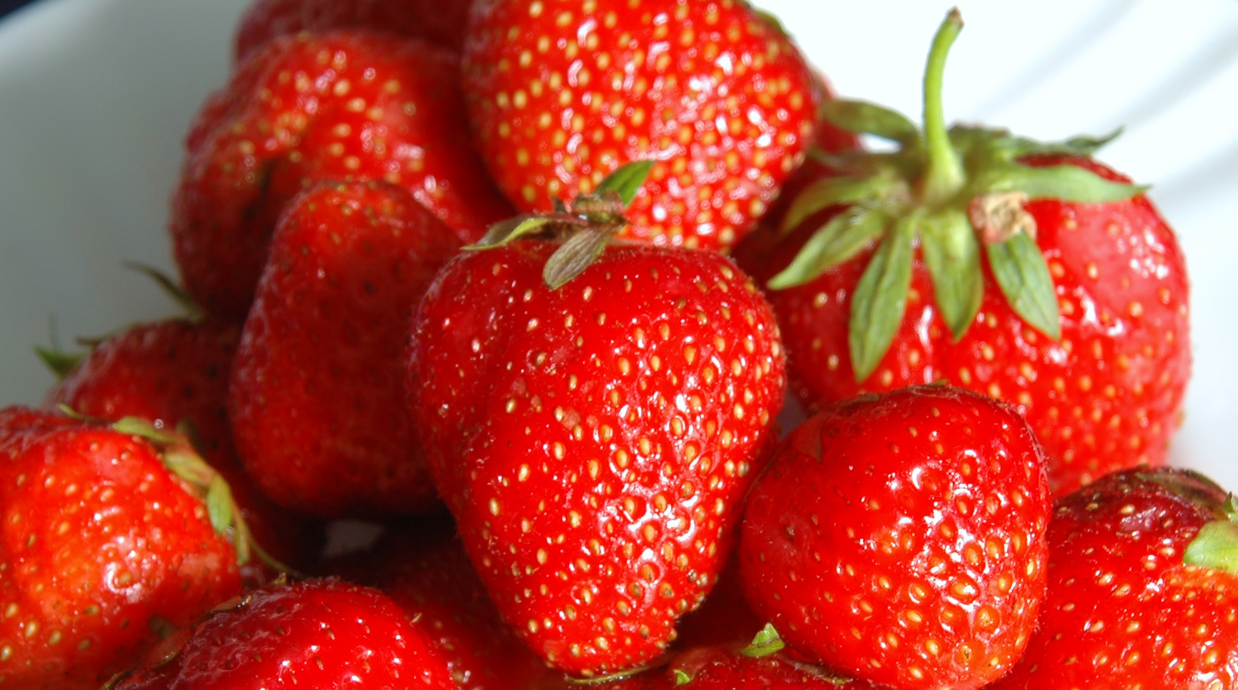
<instances>
[{"instance_id":1,"label":"dark red strawberry sliver at the top edge, behind the others","mask_svg":"<svg viewBox=\"0 0 1238 690\"><path fill-rule=\"evenodd\" d=\"M468 0L256 0L236 28L236 59L276 36L339 28L384 31L459 51Z\"/></svg>"}]
</instances>

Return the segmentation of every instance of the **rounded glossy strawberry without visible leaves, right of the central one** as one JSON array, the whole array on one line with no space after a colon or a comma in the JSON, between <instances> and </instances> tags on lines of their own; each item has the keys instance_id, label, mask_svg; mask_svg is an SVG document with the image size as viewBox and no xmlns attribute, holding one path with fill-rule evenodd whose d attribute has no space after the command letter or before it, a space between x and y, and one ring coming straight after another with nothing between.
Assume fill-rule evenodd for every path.
<instances>
[{"instance_id":1,"label":"rounded glossy strawberry without visible leaves, right of the central one","mask_svg":"<svg viewBox=\"0 0 1238 690\"><path fill-rule=\"evenodd\" d=\"M841 403L749 497L748 601L796 649L905 690L1008 673L1045 593L1045 457L1019 415L920 386Z\"/></svg>"}]
</instances>

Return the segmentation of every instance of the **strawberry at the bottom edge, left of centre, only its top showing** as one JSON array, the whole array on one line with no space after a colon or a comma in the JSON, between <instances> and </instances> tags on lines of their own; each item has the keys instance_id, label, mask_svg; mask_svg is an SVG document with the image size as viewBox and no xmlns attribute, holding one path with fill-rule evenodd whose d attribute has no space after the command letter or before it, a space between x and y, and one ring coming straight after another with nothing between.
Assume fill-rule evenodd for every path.
<instances>
[{"instance_id":1,"label":"strawberry at the bottom edge, left of centre, only its top showing","mask_svg":"<svg viewBox=\"0 0 1238 690\"><path fill-rule=\"evenodd\" d=\"M338 580L253 592L173 652L115 690L454 689L430 638L395 602Z\"/></svg>"}]
</instances>

